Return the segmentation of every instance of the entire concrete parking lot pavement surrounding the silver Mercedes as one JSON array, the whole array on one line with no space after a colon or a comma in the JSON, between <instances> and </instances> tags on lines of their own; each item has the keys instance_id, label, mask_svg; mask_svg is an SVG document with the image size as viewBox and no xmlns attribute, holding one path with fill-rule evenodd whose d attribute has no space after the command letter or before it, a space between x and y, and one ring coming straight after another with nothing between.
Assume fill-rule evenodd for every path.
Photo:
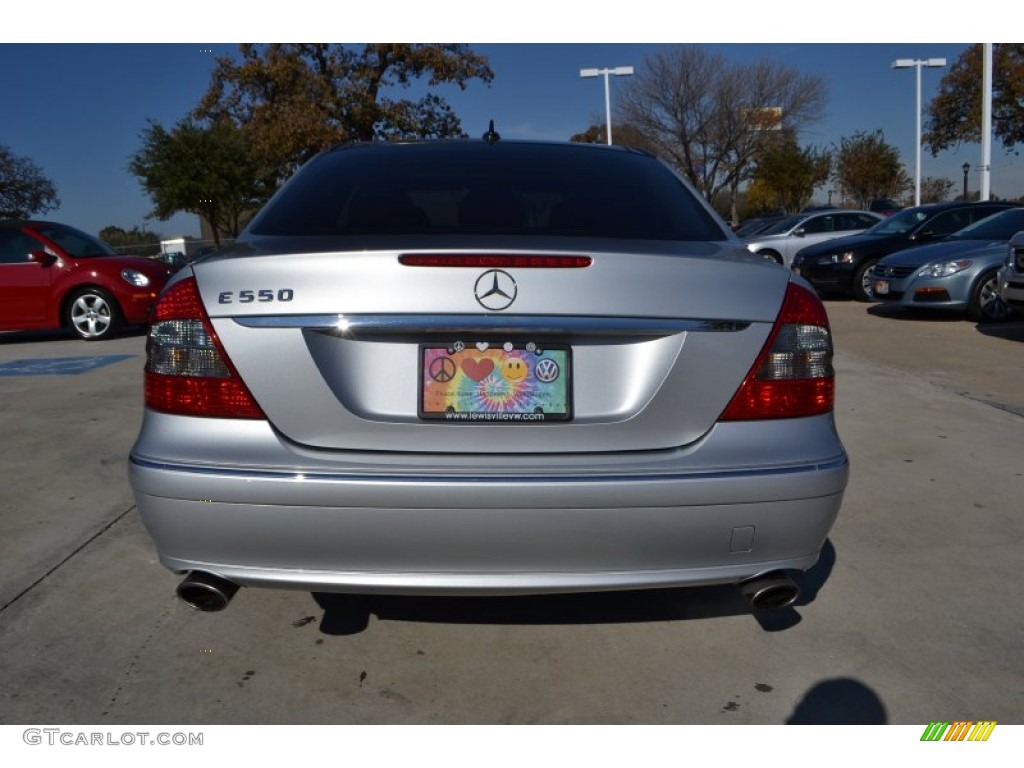
<instances>
[{"instance_id":1,"label":"entire concrete parking lot pavement surrounding the silver Mercedes","mask_svg":"<svg viewBox=\"0 0 1024 768\"><path fill-rule=\"evenodd\" d=\"M142 339L0 337L0 364L135 355L0 377L0 722L1024 722L1020 337L828 310L851 484L800 605L761 621L727 587L190 611L126 480Z\"/></svg>"}]
</instances>

